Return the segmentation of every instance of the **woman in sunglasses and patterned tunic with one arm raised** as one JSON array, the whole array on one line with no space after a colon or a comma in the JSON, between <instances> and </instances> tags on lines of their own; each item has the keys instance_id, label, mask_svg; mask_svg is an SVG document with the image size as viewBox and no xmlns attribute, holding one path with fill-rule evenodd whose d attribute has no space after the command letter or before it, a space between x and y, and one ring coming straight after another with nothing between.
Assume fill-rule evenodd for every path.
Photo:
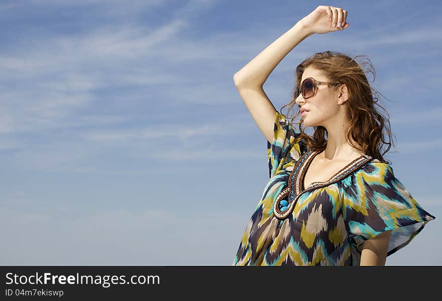
<instances>
[{"instance_id":1,"label":"woman in sunglasses and patterned tunic with one arm raised","mask_svg":"<svg viewBox=\"0 0 442 301\"><path fill-rule=\"evenodd\" d=\"M435 219L383 160L380 146L391 144L383 137L388 120L376 111L377 98L353 59L327 51L296 68L286 106L300 108L299 130L262 89L296 45L348 28L346 19L341 8L318 6L234 76L268 140L270 181L233 265L385 265ZM314 127L313 136L301 123Z\"/></svg>"}]
</instances>

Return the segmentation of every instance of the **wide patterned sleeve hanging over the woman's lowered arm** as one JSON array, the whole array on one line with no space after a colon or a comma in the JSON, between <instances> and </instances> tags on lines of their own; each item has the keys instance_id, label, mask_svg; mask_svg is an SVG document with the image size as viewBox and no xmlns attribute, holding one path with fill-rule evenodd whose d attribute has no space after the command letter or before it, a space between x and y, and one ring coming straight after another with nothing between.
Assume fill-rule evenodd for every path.
<instances>
[{"instance_id":1,"label":"wide patterned sleeve hanging over the woman's lowered arm","mask_svg":"<svg viewBox=\"0 0 442 301\"><path fill-rule=\"evenodd\" d=\"M343 217L360 260L362 243L391 231L387 256L405 247L435 217L426 212L394 176L391 166L369 163L350 177L342 195Z\"/></svg>"}]
</instances>

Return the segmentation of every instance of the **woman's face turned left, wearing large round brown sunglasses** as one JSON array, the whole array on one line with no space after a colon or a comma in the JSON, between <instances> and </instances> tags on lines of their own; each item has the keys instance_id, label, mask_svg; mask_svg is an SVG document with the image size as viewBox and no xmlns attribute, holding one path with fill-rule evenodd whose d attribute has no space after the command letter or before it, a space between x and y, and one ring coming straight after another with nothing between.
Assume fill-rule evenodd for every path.
<instances>
[{"instance_id":1,"label":"woman's face turned left, wearing large round brown sunglasses","mask_svg":"<svg viewBox=\"0 0 442 301\"><path fill-rule=\"evenodd\" d=\"M322 71L308 66L302 74L301 83L307 77L312 77L317 81L330 82ZM301 115L304 126L324 126L329 125L327 120L332 120L332 117L337 116L340 106L337 104L334 93L335 86L318 85L315 88L314 95L304 99L302 94L296 98L296 103L300 108L305 108L308 112Z\"/></svg>"}]
</instances>

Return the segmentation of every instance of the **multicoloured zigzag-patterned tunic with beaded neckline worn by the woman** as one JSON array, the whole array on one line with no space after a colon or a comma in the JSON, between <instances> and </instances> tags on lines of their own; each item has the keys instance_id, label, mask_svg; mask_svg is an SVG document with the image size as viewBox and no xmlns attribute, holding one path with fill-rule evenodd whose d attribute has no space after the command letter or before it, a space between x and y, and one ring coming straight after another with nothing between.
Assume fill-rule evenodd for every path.
<instances>
[{"instance_id":1,"label":"multicoloured zigzag-patterned tunic with beaded neckline worn by the woman","mask_svg":"<svg viewBox=\"0 0 442 301\"><path fill-rule=\"evenodd\" d=\"M435 219L391 166L368 155L304 188L305 172L321 150L294 143L298 135L277 112L272 145L267 141L270 181L232 265L360 265L365 240L392 230L389 256Z\"/></svg>"}]
</instances>

